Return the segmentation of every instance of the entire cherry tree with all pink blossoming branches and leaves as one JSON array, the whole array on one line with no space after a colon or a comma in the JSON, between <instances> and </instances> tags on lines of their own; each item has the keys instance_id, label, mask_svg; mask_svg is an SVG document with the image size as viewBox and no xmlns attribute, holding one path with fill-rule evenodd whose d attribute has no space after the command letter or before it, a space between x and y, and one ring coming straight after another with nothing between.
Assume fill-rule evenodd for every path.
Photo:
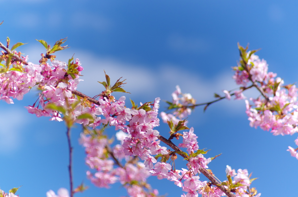
<instances>
[{"instance_id":1,"label":"entire cherry tree with all pink blossoming branches and leaves","mask_svg":"<svg viewBox=\"0 0 298 197\"><path fill-rule=\"evenodd\" d=\"M273 135L293 135L298 132L297 88L284 85L277 74L268 72L268 65L255 53L238 44L240 60L234 67L237 90L224 90L215 94L215 100L196 103L189 93L182 93L179 86L172 93L172 101L167 101L166 112L159 112L160 98L136 104L127 101L124 90L125 79L111 82L104 73L103 91L96 96L87 96L77 91L83 72L83 62L71 57L68 62L56 60L55 52L64 50L66 39L58 40L52 47L44 40L38 40L44 47L39 62L28 62L16 49L23 43L13 46L7 38L6 45L0 43L0 100L13 104L13 99L21 100L32 88L39 91L38 98L26 108L36 117L46 116L49 120L64 121L69 148L69 190L60 188L57 194L49 190L47 197L72 197L86 190L81 184L74 186L72 172L71 129L75 124L82 125L80 143L86 151L86 164L90 170L86 175L97 187L109 188L119 182L126 188L128 196L158 196L156 189L147 183L149 176L172 181L181 188L181 197L241 196L259 197L256 188L251 187L255 178L247 169L232 169L226 166L226 181L219 181L209 162L219 155L205 157L207 150L199 149L195 128L187 126L187 117L198 106L209 105L234 98L245 100L249 125L270 131ZM125 77L125 76L124 76ZM255 88L260 93L257 98L246 98L243 94ZM115 98L113 92L123 93ZM161 136L157 130L161 117L169 126L169 135ZM118 143L109 138L105 129L115 128ZM180 139L180 140L179 140ZM298 146L298 139L295 140ZM298 159L298 148L288 147L291 156ZM186 160L185 166L175 165L176 160ZM214 161L216 162L216 160ZM208 181L201 181L200 176ZM13 197L18 188L6 193L0 190L1 197Z\"/></svg>"}]
</instances>

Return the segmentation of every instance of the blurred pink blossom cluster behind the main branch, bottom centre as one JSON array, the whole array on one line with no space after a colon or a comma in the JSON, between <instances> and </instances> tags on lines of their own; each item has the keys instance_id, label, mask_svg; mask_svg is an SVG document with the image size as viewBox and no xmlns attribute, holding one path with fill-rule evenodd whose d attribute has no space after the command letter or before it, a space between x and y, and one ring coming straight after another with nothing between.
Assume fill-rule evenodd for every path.
<instances>
[{"instance_id":1,"label":"blurred pink blossom cluster behind the main branch, bottom centre","mask_svg":"<svg viewBox=\"0 0 298 197\"><path fill-rule=\"evenodd\" d=\"M120 139L120 136L123 134L122 131L118 132L117 139L122 140L123 138ZM145 165L138 162L135 157L125 156L120 144L109 148L111 141L100 131L96 135L82 133L80 143L85 147L86 164L96 171L94 174L87 171L87 176L94 185L109 188L111 184L120 182L126 188L129 196L153 197L158 195L158 191L152 190L150 185L146 183L150 172L145 168ZM114 157L114 160L111 159L111 156ZM123 158L126 160L125 165L121 164ZM116 164L115 161L117 161Z\"/></svg>"}]
</instances>

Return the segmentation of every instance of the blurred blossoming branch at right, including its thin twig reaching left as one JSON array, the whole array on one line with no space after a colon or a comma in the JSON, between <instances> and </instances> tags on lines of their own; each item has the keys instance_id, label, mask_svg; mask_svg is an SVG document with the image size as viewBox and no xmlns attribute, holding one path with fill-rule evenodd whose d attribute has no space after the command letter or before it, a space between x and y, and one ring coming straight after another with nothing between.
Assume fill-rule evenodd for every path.
<instances>
[{"instance_id":1,"label":"blurred blossoming branch at right, including its thin twig reaching left","mask_svg":"<svg viewBox=\"0 0 298 197\"><path fill-rule=\"evenodd\" d=\"M237 67L233 67L234 76L237 85L241 85L238 90L224 90L225 96L219 96L211 102L196 104L190 94L181 93L180 87L172 93L173 101L167 103L167 110L174 110L172 113L162 112L164 122L172 121L177 124L191 114L191 111L197 107L204 105L206 108L217 101L224 98L230 100L231 96L235 96L236 100L246 99L243 95L244 90L252 87L257 88L260 96L245 100L246 114L249 116L249 125L257 128L260 126L265 131L271 131L273 135L293 135L298 132L298 110L297 98L298 88L294 84L284 85L283 79L276 77L276 73L268 72L268 64L265 60L254 53L257 50L247 51L248 47L243 48L238 45L240 51L240 61ZM248 85L251 84L251 85ZM295 140L298 146L298 138ZM298 160L298 148L288 146L291 156Z\"/></svg>"}]
</instances>

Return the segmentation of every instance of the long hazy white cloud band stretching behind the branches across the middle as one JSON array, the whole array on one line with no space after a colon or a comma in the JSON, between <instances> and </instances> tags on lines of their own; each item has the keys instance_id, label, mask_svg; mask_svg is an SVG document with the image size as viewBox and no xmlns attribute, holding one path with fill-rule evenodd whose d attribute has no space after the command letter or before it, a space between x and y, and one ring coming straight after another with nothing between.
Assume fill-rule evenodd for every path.
<instances>
[{"instance_id":1,"label":"long hazy white cloud band stretching behind the branches across the middle","mask_svg":"<svg viewBox=\"0 0 298 197\"><path fill-rule=\"evenodd\" d=\"M40 48L28 48L24 50L26 54L30 55L30 61L35 60L38 62L39 55L42 49ZM61 51L62 52L62 51ZM67 62L74 54L74 51L68 49L63 51L61 55L58 55L58 60ZM89 51L75 51L75 58L79 58L84 70L83 76L80 79L84 81L80 82L78 89L82 93L95 96L101 91L103 87L97 81L105 81L104 72L111 77L111 83L116 82L117 79L127 79L124 89L131 92L131 95L125 95L128 98L134 96L142 99L155 97L161 97L162 99L171 99L171 93L175 90L175 86L179 85L182 92L191 93L197 100L197 103L203 103L212 101L214 93L218 93L224 96L223 90L232 90L239 87L232 79L233 72L221 73L213 76L212 78L206 78L199 72L192 72L191 70L182 69L179 65L161 64L159 68L152 69L150 65L146 64L131 64L122 62L114 58L97 57L95 54ZM181 68L181 69L179 69ZM246 91L245 96L256 97L259 93L256 91ZM232 97L233 99L233 97ZM239 106L244 106L244 101L229 101L221 105L221 107L233 108L237 111ZM243 109L239 109L243 112Z\"/></svg>"}]
</instances>

